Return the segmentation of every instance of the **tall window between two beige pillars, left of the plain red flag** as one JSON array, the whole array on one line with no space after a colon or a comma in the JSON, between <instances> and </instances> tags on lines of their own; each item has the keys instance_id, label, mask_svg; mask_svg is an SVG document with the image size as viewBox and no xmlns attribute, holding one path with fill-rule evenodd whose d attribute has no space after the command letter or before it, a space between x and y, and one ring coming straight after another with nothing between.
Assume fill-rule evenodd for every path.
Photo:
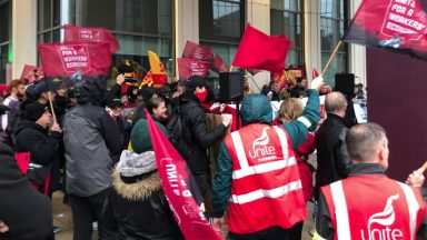
<instances>
[{"instance_id":1,"label":"tall window between two beige pillars, left of the plain red flag","mask_svg":"<svg viewBox=\"0 0 427 240\"><path fill-rule=\"evenodd\" d=\"M244 1L199 1L200 44L210 46L230 66L244 31Z\"/></svg>"}]
</instances>

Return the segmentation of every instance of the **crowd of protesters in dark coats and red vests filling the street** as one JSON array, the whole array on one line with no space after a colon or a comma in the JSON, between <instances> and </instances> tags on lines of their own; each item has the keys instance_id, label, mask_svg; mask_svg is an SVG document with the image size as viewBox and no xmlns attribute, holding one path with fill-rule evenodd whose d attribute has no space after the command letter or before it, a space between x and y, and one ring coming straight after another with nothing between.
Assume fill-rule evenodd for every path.
<instances>
[{"instance_id":1,"label":"crowd of protesters in dark coats and red vests filling the street","mask_svg":"<svg viewBox=\"0 0 427 240\"><path fill-rule=\"evenodd\" d=\"M137 88L127 86L119 74L110 88L105 80L83 79L56 90L44 80L30 86L12 80L0 104L0 239L54 239L58 228L52 226L50 200L57 190L64 191L63 201L71 206L76 240L91 239L95 222L100 239L183 239L162 191L145 111L169 136L168 123L177 109L183 136L176 148L200 193L211 189L210 217L218 232L224 233L228 224L234 240L301 239L306 206L312 201L319 209L315 239L345 239L342 228L357 239L350 223L337 223L335 214L341 210L334 207L337 199L330 186L339 182L346 193L357 187L376 191L379 184L368 188L354 177L379 174L379 180L398 189L400 183L384 173L386 131L375 123L349 124L346 96L331 91L321 77L310 87L302 78L296 84L272 80L261 93L254 93L249 86L246 79L239 113L242 128L227 134L231 120L226 117L214 131L208 130L205 116L215 94L199 77ZM320 94L326 96L327 119L317 129ZM302 107L299 98L306 97ZM363 86L355 86L350 98L366 98ZM276 119L269 101L282 101ZM224 109L221 104L219 111ZM208 149L218 141L211 176ZM257 149L267 143L268 148ZM315 150L317 170L308 162ZM20 162L26 158L30 163L23 170ZM407 214L400 202L405 198L395 207L401 218L394 227L403 236L414 238L414 228L424 218L423 181L421 172L415 171L407 180L415 188L401 187L407 198L418 201L418 208L410 209L417 223L413 231L404 227L409 226L408 218L401 217ZM360 204L347 201L351 211L363 212L374 204L357 196ZM385 206L387 197L378 196L378 204ZM361 213L356 216L359 222L368 221ZM426 234L424 228L418 234Z\"/></svg>"}]
</instances>

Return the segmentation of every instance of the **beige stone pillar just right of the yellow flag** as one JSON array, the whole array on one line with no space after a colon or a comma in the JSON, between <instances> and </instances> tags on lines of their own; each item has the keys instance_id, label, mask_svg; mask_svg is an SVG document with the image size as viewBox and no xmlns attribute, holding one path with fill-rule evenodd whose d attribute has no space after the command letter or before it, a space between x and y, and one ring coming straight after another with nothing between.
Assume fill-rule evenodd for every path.
<instances>
[{"instance_id":1,"label":"beige stone pillar just right of the yellow flag","mask_svg":"<svg viewBox=\"0 0 427 240\"><path fill-rule=\"evenodd\" d=\"M175 57L180 58L187 40L199 42L199 1L175 0ZM178 62L175 61L176 69ZM178 71L176 71L178 76Z\"/></svg>"}]
</instances>

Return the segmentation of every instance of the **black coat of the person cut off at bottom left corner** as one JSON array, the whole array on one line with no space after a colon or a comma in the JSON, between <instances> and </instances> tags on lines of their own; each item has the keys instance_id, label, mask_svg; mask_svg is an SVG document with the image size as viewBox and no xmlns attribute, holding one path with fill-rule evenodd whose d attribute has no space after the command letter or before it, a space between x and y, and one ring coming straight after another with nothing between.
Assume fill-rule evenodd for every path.
<instances>
[{"instance_id":1,"label":"black coat of the person cut off at bottom left corner","mask_svg":"<svg viewBox=\"0 0 427 240\"><path fill-rule=\"evenodd\" d=\"M12 149L4 143L0 143L0 220L9 227L8 232L0 233L0 239L53 239L49 198L29 184Z\"/></svg>"}]
</instances>

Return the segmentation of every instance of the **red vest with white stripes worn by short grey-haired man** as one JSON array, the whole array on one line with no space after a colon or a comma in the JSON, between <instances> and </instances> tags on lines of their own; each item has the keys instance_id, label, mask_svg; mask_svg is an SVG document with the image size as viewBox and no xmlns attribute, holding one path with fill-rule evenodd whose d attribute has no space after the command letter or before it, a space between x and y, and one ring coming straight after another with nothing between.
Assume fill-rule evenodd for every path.
<instances>
[{"instance_id":1,"label":"red vest with white stripes worn by short grey-haired man","mask_svg":"<svg viewBox=\"0 0 427 240\"><path fill-rule=\"evenodd\" d=\"M363 174L320 190L339 240L415 240L425 214L418 189L384 174Z\"/></svg>"}]
</instances>

